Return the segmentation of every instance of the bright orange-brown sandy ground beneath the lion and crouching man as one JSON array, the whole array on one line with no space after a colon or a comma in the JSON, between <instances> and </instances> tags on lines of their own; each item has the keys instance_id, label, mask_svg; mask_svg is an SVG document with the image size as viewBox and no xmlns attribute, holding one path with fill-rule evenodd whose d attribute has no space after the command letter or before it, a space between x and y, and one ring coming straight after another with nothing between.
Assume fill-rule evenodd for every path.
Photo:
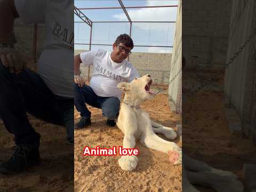
<instances>
[{"instance_id":1,"label":"bright orange-brown sandy ground beneath the lion and crouching man","mask_svg":"<svg viewBox=\"0 0 256 192\"><path fill-rule=\"evenodd\" d=\"M119 167L119 156L82 156L85 146L123 145L124 135L117 126L107 127L101 110L89 108L93 114L92 125L75 131L75 191L181 191L181 165L171 165L167 154L148 149L139 141L135 146L140 150L139 163L132 172ZM142 108L148 111L151 119L165 126L181 123L180 116L171 114L167 94L158 94L153 100L144 102ZM75 122L78 119L76 111ZM92 126L94 133L90 131ZM179 139L174 142L181 146Z\"/></svg>"}]
</instances>

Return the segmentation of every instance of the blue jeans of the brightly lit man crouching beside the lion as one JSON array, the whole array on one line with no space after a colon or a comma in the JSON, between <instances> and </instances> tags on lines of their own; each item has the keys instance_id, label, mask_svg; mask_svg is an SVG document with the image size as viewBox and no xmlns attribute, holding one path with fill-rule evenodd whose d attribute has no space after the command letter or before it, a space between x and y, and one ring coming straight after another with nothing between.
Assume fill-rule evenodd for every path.
<instances>
[{"instance_id":1,"label":"blue jeans of the brightly lit man crouching beside the lion","mask_svg":"<svg viewBox=\"0 0 256 192\"><path fill-rule=\"evenodd\" d=\"M117 97L100 97L95 94L89 85L79 87L75 85L75 106L80 112L81 117L91 117L91 111L86 104L102 109L102 115L110 120L117 118L119 114L120 100Z\"/></svg>"}]
</instances>

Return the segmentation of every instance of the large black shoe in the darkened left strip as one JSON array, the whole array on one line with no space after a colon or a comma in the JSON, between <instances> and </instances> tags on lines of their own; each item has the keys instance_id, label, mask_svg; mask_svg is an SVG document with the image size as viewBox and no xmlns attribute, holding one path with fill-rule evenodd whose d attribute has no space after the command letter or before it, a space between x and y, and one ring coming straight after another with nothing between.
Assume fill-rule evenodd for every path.
<instances>
[{"instance_id":1,"label":"large black shoe in the darkened left strip","mask_svg":"<svg viewBox=\"0 0 256 192\"><path fill-rule=\"evenodd\" d=\"M0 173L17 174L26 171L28 167L39 165L40 156L37 147L17 146L12 157L0 165Z\"/></svg>"}]
</instances>

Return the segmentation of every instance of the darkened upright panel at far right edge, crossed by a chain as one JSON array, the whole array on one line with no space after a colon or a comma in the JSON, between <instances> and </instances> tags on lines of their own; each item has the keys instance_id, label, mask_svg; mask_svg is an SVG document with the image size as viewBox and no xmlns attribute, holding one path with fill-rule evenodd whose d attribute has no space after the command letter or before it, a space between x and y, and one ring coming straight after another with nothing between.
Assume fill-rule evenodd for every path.
<instances>
[{"instance_id":1,"label":"darkened upright panel at far right edge, crossed by a chain","mask_svg":"<svg viewBox=\"0 0 256 192\"><path fill-rule=\"evenodd\" d=\"M227 61L234 56L246 39L256 30L256 2L234 0L231 4L230 35ZM256 45L253 39L226 69L225 94L227 102L237 111L243 132L255 132L256 137ZM254 130L247 129L253 125Z\"/></svg>"}]
</instances>

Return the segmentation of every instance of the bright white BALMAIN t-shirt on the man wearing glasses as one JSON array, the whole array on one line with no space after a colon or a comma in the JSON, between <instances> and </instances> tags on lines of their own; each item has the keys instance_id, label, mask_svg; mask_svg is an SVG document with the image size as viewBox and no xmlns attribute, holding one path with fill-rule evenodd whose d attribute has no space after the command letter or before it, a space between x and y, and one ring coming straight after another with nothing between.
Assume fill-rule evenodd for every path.
<instances>
[{"instance_id":1,"label":"bright white BALMAIN t-shirt on the man wearing glasses","mask_svg":"<svg viewBox=\"0 0 256 192\"><path fill-rule=\"evenodd\" d=\"M111 52L105 50L87 51L80 54L82 65L93 65L93 75L90 87L100 97L121 98L122 91L117 88L120 82L131 82L135 77L140 77L137 70L130 62L114 62L110 57Z\"/></svg>"}]
</instances>

